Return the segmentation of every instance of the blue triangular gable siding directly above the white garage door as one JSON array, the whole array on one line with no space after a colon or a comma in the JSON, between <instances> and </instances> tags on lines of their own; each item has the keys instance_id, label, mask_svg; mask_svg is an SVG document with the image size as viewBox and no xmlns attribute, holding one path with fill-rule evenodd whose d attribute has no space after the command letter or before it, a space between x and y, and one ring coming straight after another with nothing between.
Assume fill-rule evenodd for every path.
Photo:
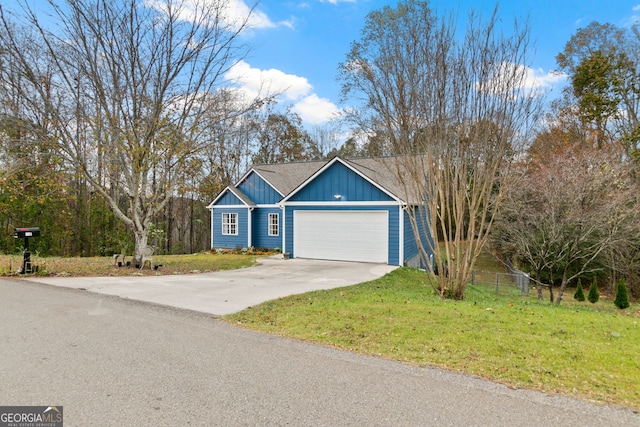
<instances>
[{"instance_id":1,"label":"blue triangular gable siding directly above the white garage door","mask_svg":"<svg viewBox=\"0 0 640 427\"><path fill-rule=\"evenodd\" d=\"M340 198L336 198L340 195ZM393 199L340 162L335 162L290 199L295 202L381 202Z\"/></svg>"}]
</instances>

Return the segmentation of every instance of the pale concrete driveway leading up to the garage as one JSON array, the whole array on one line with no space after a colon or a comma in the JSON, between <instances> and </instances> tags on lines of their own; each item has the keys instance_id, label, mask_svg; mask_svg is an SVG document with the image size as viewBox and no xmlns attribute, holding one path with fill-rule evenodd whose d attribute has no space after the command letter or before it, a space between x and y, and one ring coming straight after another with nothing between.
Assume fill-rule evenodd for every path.
<instances>
[{"instance_id":1,"label":"pale concrete driveway leading up to the garage","mask_svg":"<svg viewBox=\"0 0 640 427\"><path fill-rule=\"evenodd\" d=\"M319 289L355 285L395 266L358 262L262 258L255 267L175 276L29 277L24 280L116 295L215 315Z\"/></svg>"}]
</instances>

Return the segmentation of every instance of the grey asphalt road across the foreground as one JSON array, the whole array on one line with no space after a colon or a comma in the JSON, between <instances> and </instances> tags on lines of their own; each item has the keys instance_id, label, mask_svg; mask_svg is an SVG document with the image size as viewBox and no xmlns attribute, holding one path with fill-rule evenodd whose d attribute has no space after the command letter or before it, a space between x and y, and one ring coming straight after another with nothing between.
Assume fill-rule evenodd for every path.
<instances>
[{"instance_id":1,"label":"grey asphalt road across the foreground","mask_svg":"<svg viewBox=\"0 0 640 427\"><path fill-rule=\"evenodd\" d=\"M0 405L65 426L623 426L640 415L281 339L211 315L0 280Z\"/></svg>"}]
</instances>

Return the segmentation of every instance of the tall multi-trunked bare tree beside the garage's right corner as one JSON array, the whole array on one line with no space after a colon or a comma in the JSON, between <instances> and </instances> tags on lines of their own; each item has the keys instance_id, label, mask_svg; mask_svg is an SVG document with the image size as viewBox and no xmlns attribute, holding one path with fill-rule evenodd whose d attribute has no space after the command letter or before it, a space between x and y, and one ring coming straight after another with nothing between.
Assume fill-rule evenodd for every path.
<instances>
[{"instance_id":1,"label":"tall multi-trunked bare tree beside the garage's right corner","mask_svg":"<svg viewBox=\"0 0 640 427\"><path fill-rule=\"evenodd\" d=\"M401 1L367 16L339 67L344 98L356 105L346 119L384 137L378 151L392 155L389 170L418 203L409 223L430 272L446 272L432 281L443 297L464 297L540 108L526 89L529 29L516 21L503 31L500 22L497 9L487 19L471 13L458 33L453 13ZM439 238L421 241L420 230Z\"/></svg>"}]
</instances>

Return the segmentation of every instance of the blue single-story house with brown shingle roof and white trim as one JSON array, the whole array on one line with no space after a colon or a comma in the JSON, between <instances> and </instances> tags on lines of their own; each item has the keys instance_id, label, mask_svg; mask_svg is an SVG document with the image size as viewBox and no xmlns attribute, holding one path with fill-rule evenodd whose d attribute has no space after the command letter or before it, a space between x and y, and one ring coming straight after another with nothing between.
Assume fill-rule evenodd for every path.
<instances>
[{"instance_id":1,"label":"blue single-story house with brown shingle roof and white trim","mask_svg":"<svg viewBox=\"0 0 640 427\"><path fill-rule=\"evenodd\" d=\"M412 206L381 159L254 166L208 206L211 247L418 266Z\"/></svg>"}]
</instances>

